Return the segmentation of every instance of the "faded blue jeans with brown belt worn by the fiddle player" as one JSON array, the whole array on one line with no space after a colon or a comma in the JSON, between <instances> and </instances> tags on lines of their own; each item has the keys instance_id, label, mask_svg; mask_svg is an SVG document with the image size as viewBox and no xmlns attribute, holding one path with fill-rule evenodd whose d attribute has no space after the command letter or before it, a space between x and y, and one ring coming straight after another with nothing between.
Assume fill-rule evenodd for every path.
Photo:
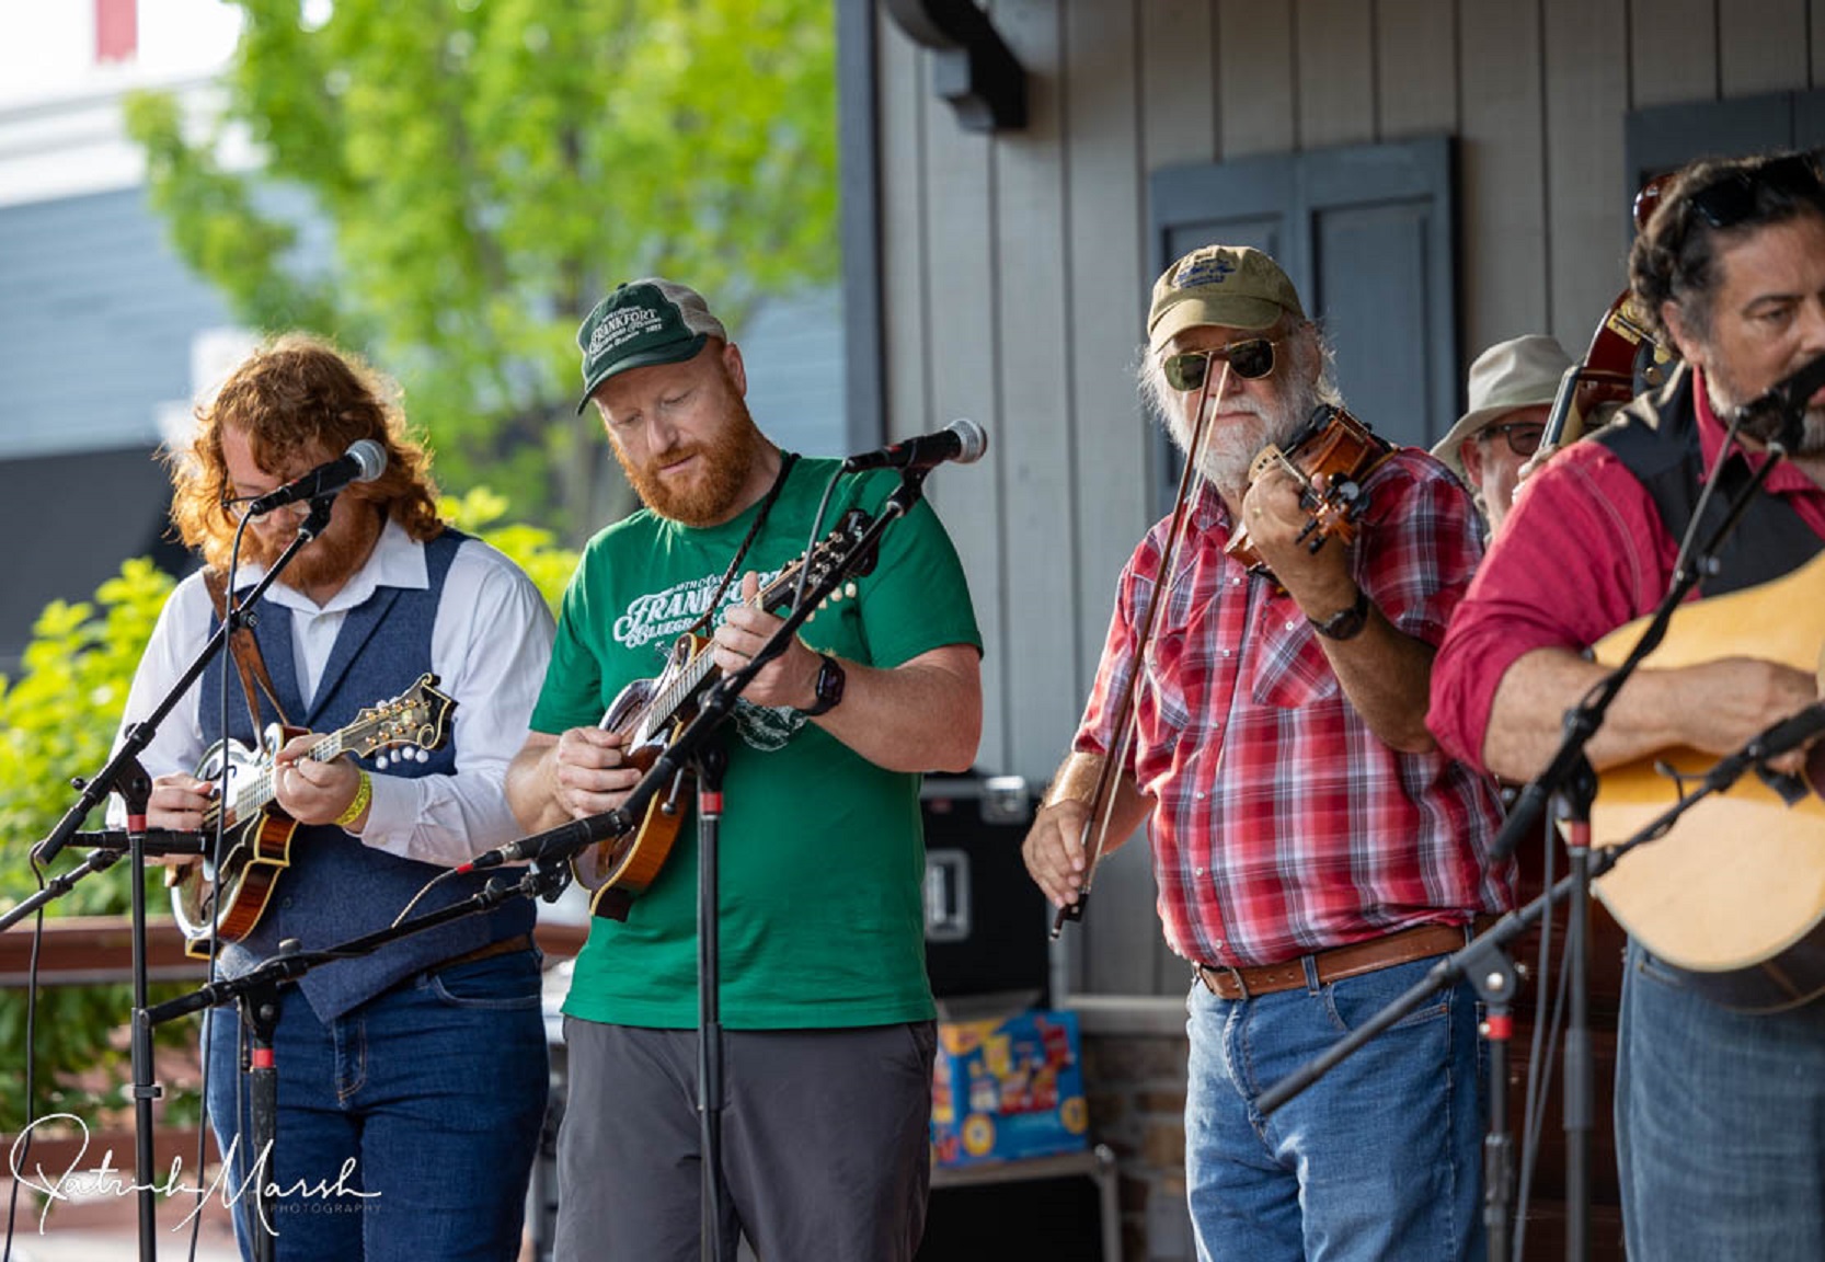
<instances>
[{"instance_id":1,"label":"faded blue jeans with brown belt worn by the fiddle player","mask_svg":"<svg viewBox=\"0 0 1825 1262\"><path fill-rule=\"evenodd\" d=\"M1467 984L1431 995L1272 1116L1256 1098L1436 961L1225 1001L1194 983L1184 1098L1199 1262L1482 1258L1482 1048Z\"/></svg>"}]
</instances>

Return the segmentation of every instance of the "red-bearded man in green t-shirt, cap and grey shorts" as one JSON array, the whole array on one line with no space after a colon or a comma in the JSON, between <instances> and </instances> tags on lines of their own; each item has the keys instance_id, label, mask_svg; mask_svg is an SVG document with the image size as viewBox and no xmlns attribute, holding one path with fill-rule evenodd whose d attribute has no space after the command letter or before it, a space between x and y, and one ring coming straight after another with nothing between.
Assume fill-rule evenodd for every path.
<instances>
[{"instance_id":1,"label":"red-bearded man in green t-shirt, cap and grey shorts","mask_svg":"<svg viewBox=\"0 0 1825 1262\"><path fill-rule=\"evenodd\" d=\"M589 541L564 595L507 773L527 831L619 807L641 778L630 734L670 714L670 692L617 707L622 690L662 676L686 632L715 670L746 667L781 621L757 594L788 586L814 528L849 508L878 515L898 484L768 442L741 351L684 285L622 285L577 342L582 405L646 508ZM918 785L975 760L980 657L956 552L920 502L719 732L725 1258L739 1235L765 1258L892 1262L918 1247L934 1050ZM699 1257L695 813L664 836L650 824L615 849L633 862L580 866L608 877L600 906L624 919L591 922L564 1003L560 1258Z\"/></svg>"}]
</instances>

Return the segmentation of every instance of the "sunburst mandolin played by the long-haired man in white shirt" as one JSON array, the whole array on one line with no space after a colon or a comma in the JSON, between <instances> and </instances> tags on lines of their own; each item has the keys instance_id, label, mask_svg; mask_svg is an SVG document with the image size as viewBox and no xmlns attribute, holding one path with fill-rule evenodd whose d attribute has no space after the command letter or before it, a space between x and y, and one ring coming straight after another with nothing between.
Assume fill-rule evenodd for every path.
<instances>
[{"instance_id":1,"label":"sunburst mandolin played by the long-haired man in white shirt","mask_svg":"<svg viewBox=\"0 0 1825 1262\"><path fill-rule=\"evenodd\" d=\"M307 758L330 762L343 754L412 752L438 749L449 740L456 701L438 692L438 678L422 674L412 687L391 701L361 710L354 723L330 732L307 751ZM172 915L184 933L184 953L204 959L212 937L239 942L265 915L272 889L292 864L292 833L297 822L274 802L272 760L303 729L272 723L257 751L235 740L223 740L203 754L197 780L219 780L228 765L226 849L221 862L204 857L182 868L168 868L164 882L172 889ZM214 833L219 805L203 813L203 831Z\"/></svg>"}]
</instances>

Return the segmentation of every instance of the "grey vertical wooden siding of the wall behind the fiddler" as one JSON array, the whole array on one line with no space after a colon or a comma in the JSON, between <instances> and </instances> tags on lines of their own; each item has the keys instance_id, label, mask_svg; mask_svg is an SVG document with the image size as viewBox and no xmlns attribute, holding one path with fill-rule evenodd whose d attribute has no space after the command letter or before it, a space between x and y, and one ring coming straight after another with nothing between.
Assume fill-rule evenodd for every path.
<instances>
[{"instance_id":1,"label":"grey vertical wooden siding of the wall behind the fiddler","mask_svg":"<svg viewBox=\"0 0 1825 1262\"><path fill-rule=\"evenodd\" d=\"M1150 172L1455 137L1462 376L1522 332L1588 345L1626 281L1630 110L1825 86L1825 0L984 7L1029 75L1022 131L965 133L880 13L887 429L975 416L989 431L980 466L929 486L989 637L978 762L1038 783L1150 521L1157 457L1132 387ZM1175 990L1142 847L1111 860L1099 895L1091 983ZM1124 922L1133 941L1115 942Z\"/></svg>"}]
</instances>

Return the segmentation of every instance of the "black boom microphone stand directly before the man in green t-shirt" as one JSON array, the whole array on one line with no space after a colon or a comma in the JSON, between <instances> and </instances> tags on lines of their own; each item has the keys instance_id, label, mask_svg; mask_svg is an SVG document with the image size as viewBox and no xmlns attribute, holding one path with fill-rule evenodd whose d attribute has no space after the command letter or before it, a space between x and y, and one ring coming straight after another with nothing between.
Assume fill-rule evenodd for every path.
<instances>
[{"instance_id":1,"label":"black boom microphone stand directly before the man in green t-shirt","mask_svg":"<svg viewBox=\"0 0 1825 1262\"><path fill-rule=\"evenodd\" d=\"M699 804L699 847L697 847L697 1109L699 1125L703 1136L703 1258L704 1262L714 1262L721 1255L715 1253L721 1246L721 1169L712 1163L712 1158L721 1152L721 1110L723 1110L723 1085L721 1085L721 1067L723 1067L723 1028L719 1021L719 990L721 990L721 961L719 961L719 941L717 941L717 880L719 880L719 862L717 862L717 826L723 811L721 796L721 765L706 767L704 752L710 745L710 736L728 720L735 710L735 699L741 692L754 681L761 667L785 652L785 647L792 643L792 636L798 628L805 625L805 619L812 615L818 605L841 586L850 573L858 572L865 559L874 555L874 548L887 528L905 517L912 506L920 500L922 486L925 475L931 469L923 468L905 468L900 471L900 486L892 495L881 504L880 515L869 522L861 535L850 544L849 552L834 559L829 568L825 568L819 577L807 583L805 594L792 612L785 615L774 636L754 654L746 667L723 676L715 687L712 687L697 707L697 716L684 725L672 743L666 747L653 765L646 769L646 774L633 785L626 800L600 816L591 816L591 820L579 820L573 826L562 829L553 829L557 836L546 844L538 853L540 858L562 860L569 858L584 846L599 842L606 836L619 836L631 831L646 816L646 805L666 791L668 785L675 783L677 778L686 771L695 767L703 785L714 785L708 796L708 833L704 831L704 804ZM721 758L723 751L715 751L714 758ZM710 771L708 780L703 780L703 773ZM708 1076L715 1074L715 1081Z\"/></svg>"}]
</instances>

